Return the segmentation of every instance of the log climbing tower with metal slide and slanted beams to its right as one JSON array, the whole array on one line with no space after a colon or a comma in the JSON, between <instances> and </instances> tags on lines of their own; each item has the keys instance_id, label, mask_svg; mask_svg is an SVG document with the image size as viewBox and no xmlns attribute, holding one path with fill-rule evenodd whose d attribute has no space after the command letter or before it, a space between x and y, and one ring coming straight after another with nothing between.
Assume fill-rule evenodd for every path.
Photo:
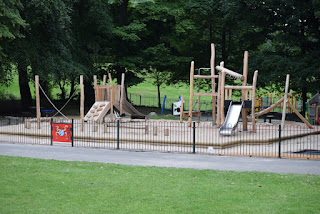
<instances>
[{"instance_id":1,"label":"log climbing tower with metal slide and slanted beams to its right","mask_svg":"<svg viewBox=\"0 0 320 214\"><path fill-rule=\"evenodd\" d=\"M282 120L281 126L284 128L284 122L286 117L286 109L289 107L291 112L294 112L309 128L312 128L311 124L298 112L292 103L290 103L290 97L292 96L289 90L289 75L287 75L284 97L278 100L278 102L263 109L260 112L255 113L255 101L256 101L256 85L258 78L258 71L256 70L253 75L252 85L247 84L248 76L248 51L244 52L243 58L243 73L239 74L228 68L224 67L224 62L221 62L219 66L214 67L215 59L215 47L211 44L211 59L210 68L199 68L198 75L194 74L194 62L191 62L190 66L190 99L189 99L189 111L182 111L180 114L180 122L183 118L188 117L188 125L191 126L192 116L197 116L197 122L200 122L200 101L201 96L212 97L212 125L217 125L220 128L220 134L231 135L234 129L237 127L240 115L242 115L242 127L243 131L248 130L248 120L251 120L252 132L256 133L256 118L264 114L269 113L277 106L282 105ZM201 75L200 70L210 70L210 75ZM219 75L215 74L215 69L219 72ZM226 76L229 75L232 78L240 79L241 85L226 85ZM200 93L194 92L194 79L210 79L211 80L211 92ZM216 79L218 79L218 86L216 91ZM232 91L241 90L241 102L236 103L232 101ZM198 96L197 111L193 111L193 96ZM183 109L183 96L181 96L181 109ZM225 115L224 109L229 106L227 115ZM248 112L251 111L251 115L248 116Z\"/></svg>"}]
</instances>

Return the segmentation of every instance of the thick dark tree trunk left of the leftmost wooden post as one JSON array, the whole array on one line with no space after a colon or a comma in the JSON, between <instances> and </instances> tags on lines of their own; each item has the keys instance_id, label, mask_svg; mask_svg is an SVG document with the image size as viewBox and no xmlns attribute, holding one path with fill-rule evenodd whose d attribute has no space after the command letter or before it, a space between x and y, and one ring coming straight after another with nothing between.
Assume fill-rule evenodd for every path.
<instances>
[{"instance_id":1,"label":"thick dark tree trunk left of the leftmost wooden post","mask_svg":"<svg viewBox=\"0 0 320 214\"><path fill-rule=\"evenodd\" d=\"M21 106L23 109L32 106L32 96L29 87L28 69L25 60L18 63L19 88L21 96Z\"/></svg>"}]
</instances>

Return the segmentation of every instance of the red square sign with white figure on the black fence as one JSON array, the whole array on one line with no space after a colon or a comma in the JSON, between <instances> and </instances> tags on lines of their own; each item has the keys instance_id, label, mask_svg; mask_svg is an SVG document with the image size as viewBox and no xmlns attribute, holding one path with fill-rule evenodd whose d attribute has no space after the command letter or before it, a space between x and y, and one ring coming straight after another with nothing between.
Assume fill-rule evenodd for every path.
<instances>
[{"instance_id":1,"label":"red square sign with white figure on the black fence","mask_svg":"<svg viewBox=\"0 0 320 214\"><path fill-rule=\"evenodd\" d=\"M72 124L52 123L51 130L51 138L53 142L72 142Z\"/></svg>"}]
</instances>

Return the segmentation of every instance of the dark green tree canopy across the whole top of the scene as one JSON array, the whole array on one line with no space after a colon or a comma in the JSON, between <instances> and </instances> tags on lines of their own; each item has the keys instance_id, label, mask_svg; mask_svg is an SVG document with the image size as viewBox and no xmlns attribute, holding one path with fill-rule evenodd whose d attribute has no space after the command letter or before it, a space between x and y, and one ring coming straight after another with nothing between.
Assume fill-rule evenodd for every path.
<instances>
[{"instance_id":1,"label":"dark green tree canopy across the whole top of the scene","mask_svg":"<svg viewBox=\"0 0 320 214\"><path fill-rule=\"evenodd\" d=\"M240 72L248 50L249 76L259 70L267 86L289 73L305 103L320 85L319 8L319 0L3 0L0 84L17 69L27 106L34 74L66 99L79 74L89 93L92 75L107 71L118 81L126 73L126 86L153 77L160 98L162 84L189 81L191 60L209 66L215 43L216 64Z\"/></svg>"}]
</instances>

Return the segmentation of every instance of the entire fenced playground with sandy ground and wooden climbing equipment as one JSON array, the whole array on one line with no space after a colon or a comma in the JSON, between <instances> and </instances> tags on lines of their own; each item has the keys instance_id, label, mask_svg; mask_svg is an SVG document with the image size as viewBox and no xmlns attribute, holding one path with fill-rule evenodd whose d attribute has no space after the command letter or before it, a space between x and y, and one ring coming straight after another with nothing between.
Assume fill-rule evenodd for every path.
<instances>
[{"instance_id":1,"label":"entire fenced playground with sandy ground and wooden climbing equipment","mask_svg":"<svg viewBox=\"0 0 320 214\"><path fill-rule=\"evenodd\" d=\"M104 75L101 84L98 84L97 76L93 77L95 102L87 112L84 110L83 76L80 76L80 115L77 119L71 120L62 113L62 110L72 97L58 109L39 84L39 76L35 76L36 118L3 120L0 134L13 135L17 138L21 135L28 136L26 141L29 142L32 142L32 137L40 137L44 139L44 144L53 145L53 141L59 142L54 140L53 135L63 137L72 132L72 137L65 138L69 140L72 138L75 146L119 149L121 142L121 148L129 150L218 155L276 157L280 156L280 153L283 155L319 151L320 128L311 125L296 109L296 103L293 103L292 94L289 93L289 75L286 76L283 97L257 111L258 71L254 72L252 84L248 84L248 57L249 54L245 51L242 74L226 68L224 62L215 66L214 44L211 44L210 68L200 67L198 74L195 74L195 63L191 62L189 101L192 102L189 102L189 110L185 110L187 107L183 94L172 109L173 115L179 117L180 121L150 120L148 115L139 112L128 101L124 88L124 73L119 85L113 84L110 73L108 81L107 75ZM210 74L202 74L204 70ZM235 85L227 85L228 76L239 80L241 84L238 82ZM198 80L198 91L195 91L196 80ZM211 92L200 92L200 80L211 81ZM236 90L241 93L240 102L232 100ZM55 109L56 113L53 116L43 117L44 113L51 112L41 112L40 92ZM203 96L209 96L212 100L212 111L209 114L211 118L207 118L206 121L201 119ZM193 102L194 97L196 106ZM310 104L316 111L319 109L317 99L319 98L315 97ZM279 107L282 109L282 114L281 118L276 119L271 113ZM288 112L295 114L302 123L286 121ZM314 112L310 115L318 117ZM56 118L58 115L60 117ZM68 127L69 125L72 127Z\"/></svg>"}]
</instances>

